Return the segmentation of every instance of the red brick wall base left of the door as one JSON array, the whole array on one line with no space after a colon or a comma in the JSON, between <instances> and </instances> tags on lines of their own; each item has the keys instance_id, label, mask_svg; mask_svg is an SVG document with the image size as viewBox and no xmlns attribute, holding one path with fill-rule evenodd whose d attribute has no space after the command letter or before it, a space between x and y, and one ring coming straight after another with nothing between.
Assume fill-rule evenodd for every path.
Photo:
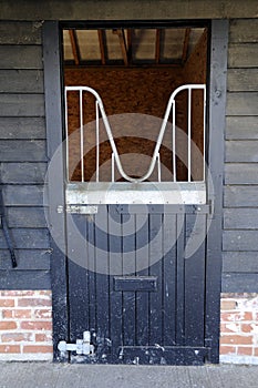
<instances>
[{"instance_id":1,"label":"red brick wall base left of the door","mask_svg":"<svg viewBox=\"0 0 258 388\"><path fill-rule=\"evenodd\" d=\"M52 359L49 290L0 290L0 360Z\"/></svg>"}]
</instances>

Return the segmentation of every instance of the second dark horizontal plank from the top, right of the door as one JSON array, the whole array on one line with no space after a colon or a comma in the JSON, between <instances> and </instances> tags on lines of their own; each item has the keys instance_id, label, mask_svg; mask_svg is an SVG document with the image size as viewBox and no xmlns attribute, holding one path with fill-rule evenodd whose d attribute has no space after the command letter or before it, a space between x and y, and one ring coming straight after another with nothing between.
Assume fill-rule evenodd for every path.
<instances>
[{"instance_id":1,"label":"second dark horizontal plank from the top, right of the door","mask_svg":"<svg viewBox=\"0 0 258 388\"><path fill-rule=\"evenodd\" d=\"M258 68L258 44L229 44L228 68Z\"/></svg>"}]
</instances>

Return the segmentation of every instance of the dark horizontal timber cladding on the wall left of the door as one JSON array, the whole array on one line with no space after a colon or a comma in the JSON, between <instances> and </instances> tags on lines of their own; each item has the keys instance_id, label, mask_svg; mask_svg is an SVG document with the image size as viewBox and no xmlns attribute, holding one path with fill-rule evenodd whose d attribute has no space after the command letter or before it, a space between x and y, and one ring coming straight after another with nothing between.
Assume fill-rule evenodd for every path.
<instances>
[{"instance_id":1,"label":"dark horizontal timber cladding on the wall left of the door","mask_svg":"<svg viewBox=\"0 0 258 388\"><path fill-rule=\"evenodd\" d=\"M50 288L41 24L0 23L0 182L18 267L0 228L1 289Z\"/></svg>"}]
</instances>

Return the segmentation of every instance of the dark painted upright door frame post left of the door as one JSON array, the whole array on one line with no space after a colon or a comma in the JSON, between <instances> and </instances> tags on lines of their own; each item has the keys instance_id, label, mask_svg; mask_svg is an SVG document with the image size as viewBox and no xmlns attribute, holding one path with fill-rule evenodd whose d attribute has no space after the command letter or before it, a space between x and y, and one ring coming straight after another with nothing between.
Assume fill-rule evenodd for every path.
<instances>
[{"instance_id":1,"label":"dark painted upright door frame post left of the door","mask_svg":"<svg viewBox=\"0 0 258 388\"><path fill-rule=\"evenodd\" d=\"M61 44L58 22L43 24L43 63L44 63L44 99L45 123L48 139L48 157L51 160L56 149L62 144L62 110L61 110ZM54 360L60 360L56 346L60 340L69 339L68 320L68 287L64 215L56 212L59 205L64 205L64 166L62 149L56 157L54 169L48 175L49 227L51 232L50 246L51 285L53 304L53 348Z\"/></svg>"}]
</instances>

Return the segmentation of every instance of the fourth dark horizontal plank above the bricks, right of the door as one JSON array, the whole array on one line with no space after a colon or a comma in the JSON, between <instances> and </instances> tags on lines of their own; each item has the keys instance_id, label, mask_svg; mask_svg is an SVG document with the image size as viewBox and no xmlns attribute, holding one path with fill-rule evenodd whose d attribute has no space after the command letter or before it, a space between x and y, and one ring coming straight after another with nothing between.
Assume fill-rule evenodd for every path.
<instances>
[{"instance_id":1,"label":"fourth dark horizontal plank above the bricks, right of the door","mask_svg":"<svg viewBox=\"0 0 258 388\"><path fill-rule=\"evenodd\" d=\"M258 229L258 208L224 210L224 229Z\"/></svg>"}]
</instances>

